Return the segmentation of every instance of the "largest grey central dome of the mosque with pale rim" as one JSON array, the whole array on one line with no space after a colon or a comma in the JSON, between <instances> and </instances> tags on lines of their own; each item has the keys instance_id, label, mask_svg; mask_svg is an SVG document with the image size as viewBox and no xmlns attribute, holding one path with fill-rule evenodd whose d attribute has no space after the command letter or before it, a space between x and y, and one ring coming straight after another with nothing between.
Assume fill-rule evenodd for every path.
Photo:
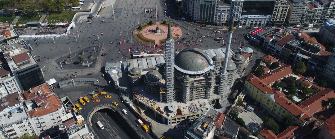
<instances>
[{"instance_id":1,"label":"largest grey central dome of the mosque with pale rim","mask_svg":"<svg viewBox=\"0 0 335 139\"><path fill-rule=\"evenodd\" d=\"M199 48L184 49L175 57L175 68L186 74L202 74L212 66L212 59Z\"/></svg>"}]
</instances>

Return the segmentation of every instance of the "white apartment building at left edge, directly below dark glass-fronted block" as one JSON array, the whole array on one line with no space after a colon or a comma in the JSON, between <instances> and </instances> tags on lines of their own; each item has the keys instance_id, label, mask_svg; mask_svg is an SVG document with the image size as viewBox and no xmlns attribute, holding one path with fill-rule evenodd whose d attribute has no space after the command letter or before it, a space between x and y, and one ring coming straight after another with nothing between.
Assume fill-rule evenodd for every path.
<instances>
[{"instance_id":1,"label":"white apartment building at left edge, directly below dark glass-fronted block","mask_svg":"<svg viewBox=\"0 0 335 139\"><path fill-rule=\"evenodd\" d=\"M0 98L14 92L21 92L15 77L8 66L0 68Z\"/></svg>"}]
</instances>

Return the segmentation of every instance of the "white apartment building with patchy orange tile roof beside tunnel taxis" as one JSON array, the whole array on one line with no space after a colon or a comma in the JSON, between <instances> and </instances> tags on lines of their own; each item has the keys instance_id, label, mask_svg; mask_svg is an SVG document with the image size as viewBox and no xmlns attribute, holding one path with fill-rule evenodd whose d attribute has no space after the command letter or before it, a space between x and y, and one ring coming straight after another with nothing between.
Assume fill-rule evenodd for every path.
<instances>
[{"instance_id":1,"label":"white apartment building with patchy orange tile roof beside tunnel taxis","mask_svg":"<svg viewBox=\"0 0 335 139\"><path fill-rule=\"evenodd\" d=\"M66 114L66 110L47 83L23 92L20 97L21 103L25 104L32 119L32 124L37 127L38 135L49 135L63 127L60 118Z\"/></svg>"}]
</instances>

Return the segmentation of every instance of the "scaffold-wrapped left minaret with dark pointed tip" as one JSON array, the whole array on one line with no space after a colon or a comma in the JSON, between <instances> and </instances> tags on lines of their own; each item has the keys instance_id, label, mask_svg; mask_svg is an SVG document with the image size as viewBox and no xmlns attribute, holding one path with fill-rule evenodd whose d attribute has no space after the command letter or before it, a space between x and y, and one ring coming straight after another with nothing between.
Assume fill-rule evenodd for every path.
<instances>
[{"instance_id":1,"label":"scaffold-wrapped left minaret with dark pointed tip","mask_svg":"<svg viewBox=\"0 0 335 139\"><path fill-rule=\"evenodd\" d=\"M176 99L175 94L175 40L172 37L170 19L169 28L167 29L167 38L165 39L165 81L166 81L166 102L173 102Z\"/></svg>"}]
</instances>

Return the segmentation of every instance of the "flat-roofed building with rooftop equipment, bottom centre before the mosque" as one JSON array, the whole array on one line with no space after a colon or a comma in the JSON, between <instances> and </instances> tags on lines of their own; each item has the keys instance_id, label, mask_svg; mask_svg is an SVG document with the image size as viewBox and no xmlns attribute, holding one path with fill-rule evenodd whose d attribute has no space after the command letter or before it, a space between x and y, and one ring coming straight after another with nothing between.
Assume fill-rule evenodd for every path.
<instances>
[{"instance_id":1,"label":"flat-roofed building with rooftop equipment, bottom centre before the mosque","mask_svg":"<svg viewBox=\"0 0 335 139\"><path fill-rule=\"evenodd\" d=\"M186 139L211 139L214 137L214 119L219 112L209 109L185 133Z\"/></svg>"}]
</instances>

